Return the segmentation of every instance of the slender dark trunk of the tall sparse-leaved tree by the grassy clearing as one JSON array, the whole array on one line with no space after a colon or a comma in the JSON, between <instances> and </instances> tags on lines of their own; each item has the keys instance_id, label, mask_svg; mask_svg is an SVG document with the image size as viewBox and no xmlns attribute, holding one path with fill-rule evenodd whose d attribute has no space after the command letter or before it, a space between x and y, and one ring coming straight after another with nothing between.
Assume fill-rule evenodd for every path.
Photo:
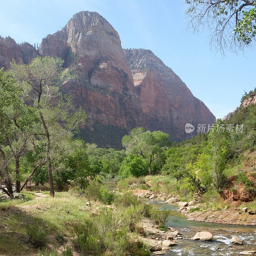
<instances>
[{"instance_id":1,"label":"slender dark trunk of the tall sparse-leaved tree by the grassy clearing","mask_svg":"<svg viewBox=\"0 0 256 256\"><path fill-rule=\"evenodd\" d=\"M53 178L52 178L52 160L51 160L51 156L50 156L50 146L51 146L51 142L50 142L50 135L49 135L49 131L48 128L45 124L44 121L44 116L43 113L40 111L39 112L43 127L44 127L44 132L46 135L46 159L48 162L48 176L49 176L49 184L50 184L50 196L54 196L54 187L53 187Z\"/></svg>"}]
</instances>

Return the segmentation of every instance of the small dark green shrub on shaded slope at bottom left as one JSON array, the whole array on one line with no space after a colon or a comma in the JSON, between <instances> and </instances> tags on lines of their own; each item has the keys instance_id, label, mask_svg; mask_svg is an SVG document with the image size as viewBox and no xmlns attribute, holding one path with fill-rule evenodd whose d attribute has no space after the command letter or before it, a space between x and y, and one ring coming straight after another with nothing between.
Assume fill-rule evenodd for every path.
<instances>
[{"instance_id":1,"label":"small dark green shrub on shaded slope at bottom left","mask_svg":"<svg viewBox=\"0 0 256 256\"><path fill-rule=\"evenodd\" d=\"M46 244L47 230L38 221L33 225L26 225L25 231L28 236L28 241L33 246L39 248Z\"/></svg>"}]
</instances>

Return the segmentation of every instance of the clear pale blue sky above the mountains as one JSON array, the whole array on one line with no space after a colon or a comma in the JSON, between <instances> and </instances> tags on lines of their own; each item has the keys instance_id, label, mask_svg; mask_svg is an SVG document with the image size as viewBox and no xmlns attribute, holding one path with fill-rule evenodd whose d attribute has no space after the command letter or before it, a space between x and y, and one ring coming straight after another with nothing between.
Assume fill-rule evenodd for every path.
<instances>
[{"instance_id":1,"label":"clear pale blue sky above the mountains","mask_svg":"<svg viewBox=\"0 0 256 256\"><path fill-rule=\"evenodd\" d=\"M256 86L256 49L236 55L211 51L207 31L187 31L185 0L2 1L0 35L41 43L80 11L99 12L119 33L123 48L152 50L217 117L240 104Z\"/></svg>"}]
</instances>

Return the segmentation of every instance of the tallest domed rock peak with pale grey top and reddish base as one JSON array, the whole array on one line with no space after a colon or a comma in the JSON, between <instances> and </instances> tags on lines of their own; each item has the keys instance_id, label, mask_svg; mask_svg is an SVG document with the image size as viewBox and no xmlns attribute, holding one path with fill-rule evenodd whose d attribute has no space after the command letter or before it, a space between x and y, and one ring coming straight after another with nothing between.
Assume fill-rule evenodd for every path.
<instances>
[{"instance_id":1,"label":"tallest domed rock peak with pale grey top and reddish base","mask_svg":"<svg viewBox=\"0 0 256 256\"><path fill-rule=\"evenodd\" d=\"M74 70L76 80L64 92L88 113L85 129L93 130L95 122L125 130L145 127L118 33L97 12L76 13L61 31L43 39L39 52L64 59Z\"/></svg>"}]
</instances>

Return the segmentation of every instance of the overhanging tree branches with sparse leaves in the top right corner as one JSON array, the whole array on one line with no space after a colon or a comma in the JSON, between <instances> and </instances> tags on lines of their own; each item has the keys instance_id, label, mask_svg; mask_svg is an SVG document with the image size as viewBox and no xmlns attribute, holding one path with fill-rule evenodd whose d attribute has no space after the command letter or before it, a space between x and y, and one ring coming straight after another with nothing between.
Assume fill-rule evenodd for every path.
<instances>
[{"instance_id":1,"label":"overhanging tree branches with sparse leaves in the top right corner","mask_svg":"<svg viewBox=\"0 0 256 256\"><path fill-rule=\"evenodd\" d=\"M210 32L210 44L224 54L225 49L243 50L255 44L256 1L185 0L188 28Z\"/></svg>"}]
</instances>

